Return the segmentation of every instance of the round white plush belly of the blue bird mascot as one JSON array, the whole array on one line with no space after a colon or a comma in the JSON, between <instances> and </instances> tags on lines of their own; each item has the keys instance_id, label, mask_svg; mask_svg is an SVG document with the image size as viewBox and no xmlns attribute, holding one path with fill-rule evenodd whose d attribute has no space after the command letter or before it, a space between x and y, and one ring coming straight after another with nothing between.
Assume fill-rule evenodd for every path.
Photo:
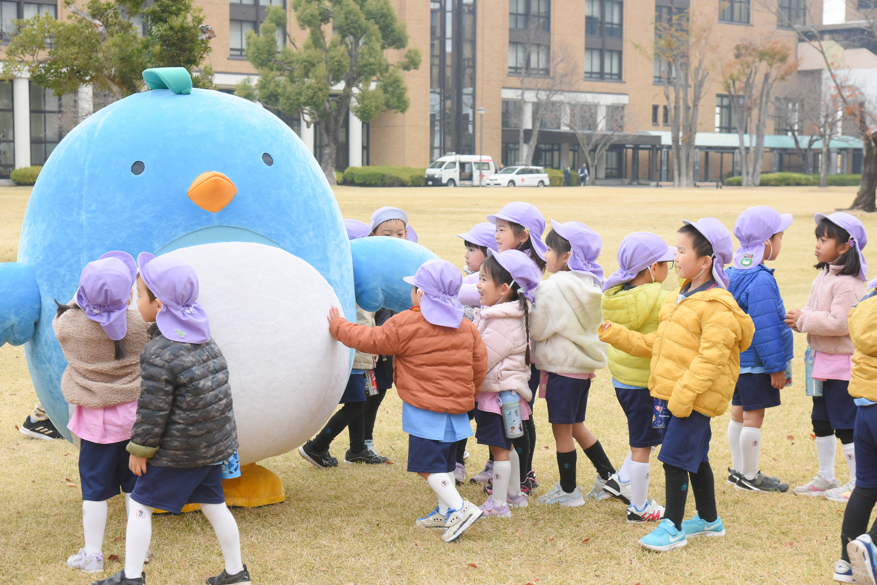
<instances>
[{"instance_id":1,"label":"round white plush belly of the blue bird mascot","mask_svg":"<svg viewBox=\"0 0 877 585\"><path fill-rule=\"evenodd\" d=\"M184 247L210 334L228 361L241 464L287 453L332 416L350 350L329 334L339 307L317 270L280 248L249 242Z\"/></svg>"}]
</instances>

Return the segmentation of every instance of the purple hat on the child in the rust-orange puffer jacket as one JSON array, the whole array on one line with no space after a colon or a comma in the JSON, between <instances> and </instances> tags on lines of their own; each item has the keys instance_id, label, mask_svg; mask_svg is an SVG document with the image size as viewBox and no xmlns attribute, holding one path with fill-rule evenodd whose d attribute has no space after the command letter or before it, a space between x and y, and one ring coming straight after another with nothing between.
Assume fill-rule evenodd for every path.
<instances>
[{"instance_id":1,"label":"purple hat on the child in the rust-orange puffer jacket","mask_svg":"<svg viewBox=\"0 0 877 585\"><path fill-rule=\"evenodd\" d=\"M426 260L417 274L405 276L403 281L424 291L420 311L432 325L457 329L463 322L463 305L457 300L463 277L460 269L447 260Z\"/></svg>"}]
</instances>

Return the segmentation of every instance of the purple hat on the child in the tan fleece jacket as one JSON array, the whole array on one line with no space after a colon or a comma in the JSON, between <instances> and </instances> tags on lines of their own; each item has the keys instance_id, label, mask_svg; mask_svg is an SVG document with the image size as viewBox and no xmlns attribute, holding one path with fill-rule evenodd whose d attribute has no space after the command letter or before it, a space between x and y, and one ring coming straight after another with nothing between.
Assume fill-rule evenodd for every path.
<instances>
[{"instance_id":1,"label":"purple hat on the child in the tan fleece jacket","mask_svg":"<svg viewBox=\"0 0 877 585\"><path fill-rule=\"evenodd\" d=\"M128 332L128 304L137 278L137 265L131 254L108 252L82 268L76 304L113 341Z\"/></svg>"}]
</instances>

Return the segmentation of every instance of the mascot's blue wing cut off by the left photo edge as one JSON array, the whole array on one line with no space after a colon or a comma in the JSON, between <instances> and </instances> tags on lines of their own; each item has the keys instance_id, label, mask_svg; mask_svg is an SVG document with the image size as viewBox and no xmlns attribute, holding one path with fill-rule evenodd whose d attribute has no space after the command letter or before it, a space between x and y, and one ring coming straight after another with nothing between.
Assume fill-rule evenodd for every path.
<instances>
[{"instance_id":1,"label":"mascot's blue wing cut off by the left photo edge","mask_svg":"<svg viewBox=\"0 0 877 585\"><path fill-rule=\"evenodd\" d=\"M31 267L0 263L0 346L20 346L32 338L40 304L39 285Z\"/></svg>"}]
</instances>

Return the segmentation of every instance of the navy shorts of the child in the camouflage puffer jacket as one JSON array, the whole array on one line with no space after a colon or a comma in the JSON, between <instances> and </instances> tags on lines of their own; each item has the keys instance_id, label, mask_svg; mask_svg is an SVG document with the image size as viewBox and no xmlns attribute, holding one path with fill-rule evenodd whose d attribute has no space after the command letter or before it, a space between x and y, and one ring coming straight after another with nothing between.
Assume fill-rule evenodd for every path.
<instances>
[{"instance_id":1,"label":"navy shorts of the child in the camouflage puffer jacket","mask_svg":"<svg viewBox=\"0 0 877 585\"><path fill-rule=\"evenodd\" d=\"M225 503L222 466L157 467L147 462L131 499L175 514L187 503Z\"/></svg>"}]
</instances>

